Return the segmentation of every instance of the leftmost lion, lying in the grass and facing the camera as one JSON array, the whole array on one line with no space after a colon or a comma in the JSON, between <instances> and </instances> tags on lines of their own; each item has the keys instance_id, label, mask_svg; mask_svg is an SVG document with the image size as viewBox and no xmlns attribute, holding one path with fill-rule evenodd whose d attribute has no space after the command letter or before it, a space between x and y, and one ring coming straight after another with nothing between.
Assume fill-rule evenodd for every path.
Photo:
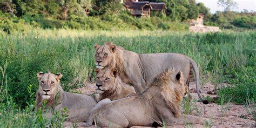
<instances>
[{"instance_id":1,"label":"leftmost lion, lying in the grass and facing the camera","mask_svg":"<svg viewBox=\"0 0 256 128\"><path fill-rule=\"evenodd\" d=\"M65 92L60 86L61 73L52 74L38 72L39 89L36 93L36 110L42 107L43 100L47 100L46 106L53 107L53 110L61 110L64 107L69 109L68 121L85 122L90 110L97 104L92 96L80 95L77 93ZM47 117L51 118L49 111Z\"/></svg>"}]
</instances>

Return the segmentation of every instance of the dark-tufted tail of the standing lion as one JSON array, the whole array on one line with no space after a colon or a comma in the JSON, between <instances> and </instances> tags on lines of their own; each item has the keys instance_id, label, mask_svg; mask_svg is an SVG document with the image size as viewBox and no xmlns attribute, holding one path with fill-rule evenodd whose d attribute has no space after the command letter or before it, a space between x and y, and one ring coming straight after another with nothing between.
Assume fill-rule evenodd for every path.
<instances>
[{"instance_id":1,"label":"dark-tufted tail of the standing lion","mask_svg":"<svg viewBox=\"0 0 256 128\"><path fill-rule=\"evenodd\" d=\"M199 91L199 70L197 67L196 62L194 62L193 59L190 59L190 63L192 65L192 68L194 70L195 76L196 76L196 86L197 86L197 95L199 97L199 99L204 103L204 104L208 104L208 101L206 99L203 99L200 95L200 91Z\"/></svg>"}]
</instances>

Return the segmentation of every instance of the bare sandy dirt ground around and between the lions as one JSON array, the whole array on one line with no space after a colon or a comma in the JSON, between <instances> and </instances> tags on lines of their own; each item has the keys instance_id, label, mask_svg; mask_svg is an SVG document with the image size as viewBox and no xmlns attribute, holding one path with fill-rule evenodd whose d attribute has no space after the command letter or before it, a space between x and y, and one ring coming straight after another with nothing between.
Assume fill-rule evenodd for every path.
<instances>
[{"instance_id":1,"label":"bare sandy dirt ground around and between the lions","mask_svg":"<svg viewBox=\"0 0 256 128\"><path fill-rule=\"evenodd\" d=\"M95 92L95 84L87 84L86 87L79 88L85 95L90 95ZM200 89L201 95L217 97L214 93L214 85L206 83L203 89ZM208 92L208 93L207 93ZM212 122L212 127L256 127L253 117L245 109L244 105L235 105L228 103L225 105L217 105L215 103L209 103L207 105L197 102L198 96L196 93L196 84L190 83L190 93L192 95L192 115L203 118L208 118ZM212 94L212 95L211 95ZM72 124L71 122L65 122L64 127L86 127L86 123ZM142 128L142 126L133 126L134 128ZM168 127L184 127L184 126L168 126ZM205 127L203 125L193 125L191 127ZM143 127L145 128L145 127Z\"/></svg>"}]
</instances>

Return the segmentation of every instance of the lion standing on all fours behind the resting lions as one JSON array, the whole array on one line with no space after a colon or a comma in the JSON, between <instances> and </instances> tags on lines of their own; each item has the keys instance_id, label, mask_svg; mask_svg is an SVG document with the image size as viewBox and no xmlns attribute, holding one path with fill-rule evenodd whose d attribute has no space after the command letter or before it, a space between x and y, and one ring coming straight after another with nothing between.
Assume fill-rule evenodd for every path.
<instances>
[{"instance_id":1,"label":"lion standing on all fours behind the resting lions","mask_svg":"<svg viewBox=\"0 0 256 128\"><path fill-rule=\"evenodd\" d=\"M193 69L196 76L198 97L204 104L208 104L207 100L200 95L198 67L190 57L179 53L137 54L117 47L111 42L106 42L102 46L95 44L94 48L96 68L117 69L118 76L124 83L133 85L137 94L142 94L150 87L156 75L170 68L182 71L188 86L193 74L191 69Z\"/></svg>"}]
</instances>

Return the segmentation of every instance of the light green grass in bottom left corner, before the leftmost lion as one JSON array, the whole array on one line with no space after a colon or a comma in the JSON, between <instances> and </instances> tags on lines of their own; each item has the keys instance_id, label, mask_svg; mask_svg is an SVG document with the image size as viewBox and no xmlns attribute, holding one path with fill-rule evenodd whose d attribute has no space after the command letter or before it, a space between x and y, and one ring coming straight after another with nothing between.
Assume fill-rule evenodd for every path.
<instances>
[{"instance_id":1,"label":"light green grass in bottom left corner, before the leftmost lion","mask_svg":"<svg viewBox=\"0 0 256 128\"><path fill-rule=\"evenodd\" d=\"M8 96L8 93L5 96L6 102L0 104L0 127L63 127L67 117L67 109L56 110L52 118L48 119L46 118L46 111L42 109L35 111L35 102L28 102L27 106L21 109L14 102L14 98ZM32 94L32 96L35 95Z\"/></svg>"}]
</instances>

